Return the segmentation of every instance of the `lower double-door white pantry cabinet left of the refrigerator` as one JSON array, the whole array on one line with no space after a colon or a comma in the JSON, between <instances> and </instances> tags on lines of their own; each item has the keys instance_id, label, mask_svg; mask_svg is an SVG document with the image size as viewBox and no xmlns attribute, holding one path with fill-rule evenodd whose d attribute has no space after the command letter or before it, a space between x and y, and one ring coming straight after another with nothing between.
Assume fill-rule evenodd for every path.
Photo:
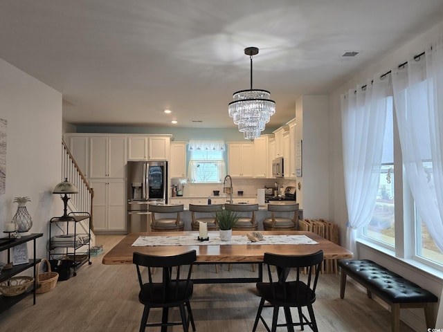
<instances>
[{"instance_id":1,"label":"lower double-door white pantry cabinet left of the refrigerator","mask_svg":"<svg viewBox=\"0 0 443 332\"><path fill-rule=\"evenodd\" d=\"M94 232L126 232L126 186L124 179L90 181L94 190Z\"/></svg>"}]
</instances>

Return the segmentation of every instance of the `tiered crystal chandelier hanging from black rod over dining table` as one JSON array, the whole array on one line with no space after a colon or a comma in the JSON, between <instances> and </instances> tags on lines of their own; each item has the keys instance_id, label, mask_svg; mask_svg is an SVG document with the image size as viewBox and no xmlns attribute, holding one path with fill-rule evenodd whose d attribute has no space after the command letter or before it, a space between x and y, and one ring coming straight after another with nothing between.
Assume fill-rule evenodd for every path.
<instances>
[{"instance_id":1,"label":"tiered crystal chandelier hanging from black rod over dining table","mask_svg":"<svg viewBox=\"0 0 443 332\"><path fill-rule=\"evenodd\" d=\"M275 102L269 99L269 91L252 89L252 57L258 54L258 48L245 48L244 54L251 59L251 89L233 94L234 101L229 103L228 113L244 138L253 140L260 137L269 118L275 113Z\"/></svg>"}]
</instances>

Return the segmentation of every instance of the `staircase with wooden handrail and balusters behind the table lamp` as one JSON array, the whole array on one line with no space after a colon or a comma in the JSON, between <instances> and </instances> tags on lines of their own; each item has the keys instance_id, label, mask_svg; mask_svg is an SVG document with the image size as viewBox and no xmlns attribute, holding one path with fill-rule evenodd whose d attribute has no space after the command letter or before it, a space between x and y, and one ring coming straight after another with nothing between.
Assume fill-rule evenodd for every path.
<instances>
[{"instance_id":1,"label":"staircase with wooden handrail and balusters behind the table lamp","mask_svg":"<svg viewBox=\"0 0 443 332\"><path fill-rule=\"evenodd\" d=\"M78 189L78 194L71 194L71 199L68 201L68 208L71 212L88 212L91 214L89 223L87 221L80 221L77 223L78 232L88 232L89 225L91 226L91 246L96 244L96 236L93 234L93 211L92 201L94 191L89 187L87 179L84 177L81 169L62 140L62 181L67 178L69 182L73 183ZM71 230L70 230L71 231Z\"/></svg>"}]
</instances>

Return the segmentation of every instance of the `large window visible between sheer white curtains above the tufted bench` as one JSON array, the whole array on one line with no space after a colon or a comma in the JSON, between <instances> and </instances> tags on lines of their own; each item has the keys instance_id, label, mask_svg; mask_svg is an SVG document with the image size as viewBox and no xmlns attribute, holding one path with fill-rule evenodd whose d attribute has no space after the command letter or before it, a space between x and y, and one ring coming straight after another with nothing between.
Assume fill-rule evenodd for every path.
<instances>
[{"instance_id":1,"label":"large window visible between sheer white curtains above the tufted bench","mask_svg":"<svg viewBox=\"0 0 443 332\"><path fill-rule=\"evenodd\" d=\"M412 195L404 195L404 199L409 199L410 201L399 201L402 202L404 207L412 206L413 208L410 210L408 208L403 208L404 215L399 217L401 220L397 222L395 220L394 174L404 177L403 181L406 183L404 190L409 190L409 188L404 169L401 165L401 160L399 160L400 165L396 165L397 172L394 172L395 151L400 151L401 147L399 142L394 144L393 138L395 134L397 134L395 132L397 127L394 125L394 105L392 98L388 98L387 100L390 107L388 107L387 111L386 129L383 139L383 157L379 179L379 191L377 193L377 201L375 203L372 219L369 225L363 228L361 234L363 234L363 238L367 241L377 243L377 245L384 246L385 248L391 248L393 255L395 255L394 247L396 243L400 243L397 244L397 246L405 246L405 248L403 248L404 250L399 250L399 252L406 252L406 256L403 258L416 259L428 266L443 270L443 253L437 248L426 225L422 222L422 218L415 208ZM426 170L428 181L432 183L432 163L428 163L424 160L423 165ZM397 228L395 227L396 225ZM408 232L408 230L412 230L412 232ZM403 241L402 237L404 237L405 232L407 234L410 233L410 237L406 237L406 240ZM412 250L409 250L409 248L412 248Z\"/></svg>"}]
</instances>

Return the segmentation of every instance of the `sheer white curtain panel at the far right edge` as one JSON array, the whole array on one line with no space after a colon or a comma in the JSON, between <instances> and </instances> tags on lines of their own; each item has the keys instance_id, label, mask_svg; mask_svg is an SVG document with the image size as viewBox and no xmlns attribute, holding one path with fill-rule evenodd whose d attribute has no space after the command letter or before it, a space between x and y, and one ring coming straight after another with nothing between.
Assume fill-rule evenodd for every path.
<instances>
[{"instance_id":1,"label":"sheer white curtain panel at the far right edge","mask_svg":"<svg viewBox=\"0 0 443 332\"><path fill-rule=\"evenodd\" d=\"M443 252L443 37L426 56L392 71L408 184L422 221Z\"/></svg>"}]
</instances>

